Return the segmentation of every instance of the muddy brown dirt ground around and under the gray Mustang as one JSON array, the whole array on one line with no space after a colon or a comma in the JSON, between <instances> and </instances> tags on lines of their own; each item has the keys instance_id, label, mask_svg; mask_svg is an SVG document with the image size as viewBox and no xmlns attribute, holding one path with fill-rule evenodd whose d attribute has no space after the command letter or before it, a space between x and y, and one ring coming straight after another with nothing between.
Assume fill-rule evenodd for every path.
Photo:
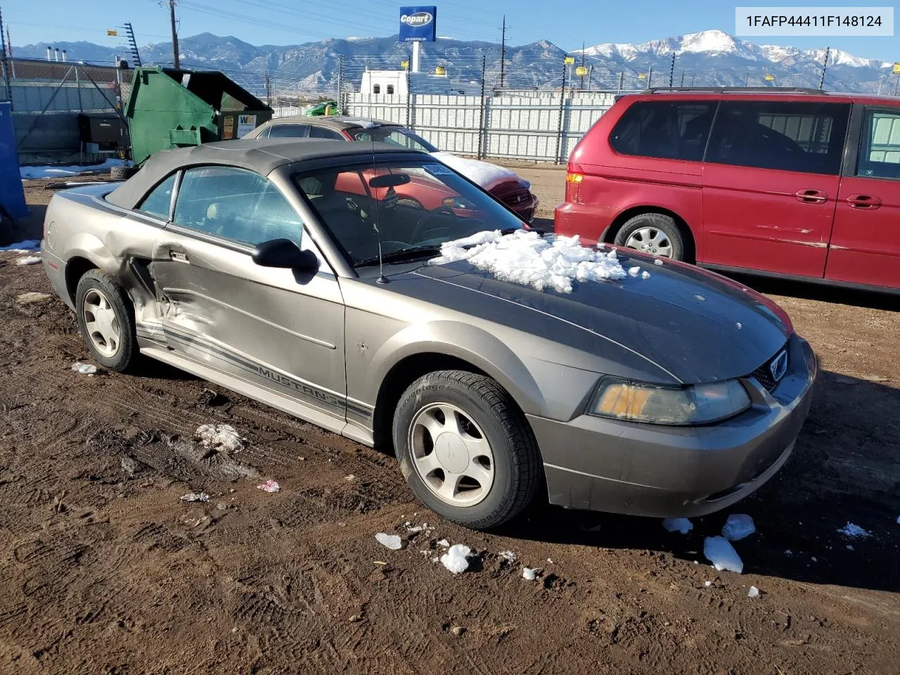
<instances>
[{"instance_id":1,"label":"muddy brown dirt ground around and under the gray Mustang","mask_svg":"<svg viewBox=\"0 0 900 675\"><path fill-rule=\"evenodd\" d=\"M689 535L543 505L480 534L419 506L391 456L190 375L73 372L74 316L18 300L52 293L18 257L0 254L2 673L897 672L896 300L762 288L821 358L813 409L779 474ZM202 447L206 423L246 446ZM729 513L757 525L743 574L702 554ZM444 538L470 571L432 562Z\"/></svg>"}]
</instances>

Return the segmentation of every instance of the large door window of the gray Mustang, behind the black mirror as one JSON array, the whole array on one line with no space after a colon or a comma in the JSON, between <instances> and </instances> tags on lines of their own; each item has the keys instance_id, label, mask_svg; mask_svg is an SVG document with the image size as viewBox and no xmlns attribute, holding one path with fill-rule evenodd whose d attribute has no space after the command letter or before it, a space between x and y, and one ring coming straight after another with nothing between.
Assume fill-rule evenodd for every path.
<instances>
[{"instance_id":1,"label":"large door window of the gray Mustang, behind the black mirror","mask_svg":"<svg viewBox=\"0 0 900 675\"><path fill-rule=\"evenodd\" d=\"M175 224L249 246L275 238L300 243L302 221L261 175L230 166L184 172L175 202Z\"/></svg>"}]
</instances>

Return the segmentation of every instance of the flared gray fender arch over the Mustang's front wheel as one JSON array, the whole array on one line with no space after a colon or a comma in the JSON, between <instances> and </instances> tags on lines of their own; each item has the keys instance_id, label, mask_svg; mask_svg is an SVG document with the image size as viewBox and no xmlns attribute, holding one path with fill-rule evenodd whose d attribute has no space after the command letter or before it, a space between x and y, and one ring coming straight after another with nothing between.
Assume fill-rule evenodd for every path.
<instances>
[{"instance_id":1,"label":"flared gray fender arch over the Mustang's front wheel","mask_svg":"<svg viewBox=\"0 0 900 675\"><path fill-rule=\"evenodd\" d=\"M414 324L388 338L372 357L372 391L365 393L364 400L377 399L384 378L404 358L428 353L455 356L482 370L526 413L545 410L544 395L515 352L486 330L447 320Z\"/></svg>"}]
</instances>

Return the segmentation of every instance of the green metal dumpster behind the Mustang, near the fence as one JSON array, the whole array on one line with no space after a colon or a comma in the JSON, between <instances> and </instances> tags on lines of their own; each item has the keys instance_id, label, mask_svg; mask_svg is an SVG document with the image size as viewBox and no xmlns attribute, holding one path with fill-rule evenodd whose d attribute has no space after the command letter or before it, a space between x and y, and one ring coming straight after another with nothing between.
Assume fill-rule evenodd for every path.
<instances>
[{"instance_id":1,"label":"green metal dumpster behind the Mustang, near the fence","mask_svg":"<svg viewBox=\"0 0 900 675\"><path fill-rule=\"evenodd\" d=\"M131 157L239 139L272 119L272 108L222 73L137 67L125 106Z\"/></svg>"}]
</instances>

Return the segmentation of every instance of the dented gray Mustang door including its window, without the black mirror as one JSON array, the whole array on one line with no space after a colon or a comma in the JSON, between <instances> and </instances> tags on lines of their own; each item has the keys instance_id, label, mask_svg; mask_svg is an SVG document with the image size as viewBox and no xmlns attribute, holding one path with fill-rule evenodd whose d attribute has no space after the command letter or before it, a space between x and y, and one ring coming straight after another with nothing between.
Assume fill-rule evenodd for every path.
<instances>
[{"instance_id":1,"label":"dented gray Mustang door including its window, without the black mirror","mask_svg":"<svg viewBox=\"0 0 900 675\"><path fill-rule=\"evenodd\" d=\"M173 220L150 266L168 347L236 378L238 391L245 381L344 419L343 299L284 195L243 169L189 169ZM273 238L312 250L319 271L257 266L253 248Z\"/></svg>"}]
</instances>

